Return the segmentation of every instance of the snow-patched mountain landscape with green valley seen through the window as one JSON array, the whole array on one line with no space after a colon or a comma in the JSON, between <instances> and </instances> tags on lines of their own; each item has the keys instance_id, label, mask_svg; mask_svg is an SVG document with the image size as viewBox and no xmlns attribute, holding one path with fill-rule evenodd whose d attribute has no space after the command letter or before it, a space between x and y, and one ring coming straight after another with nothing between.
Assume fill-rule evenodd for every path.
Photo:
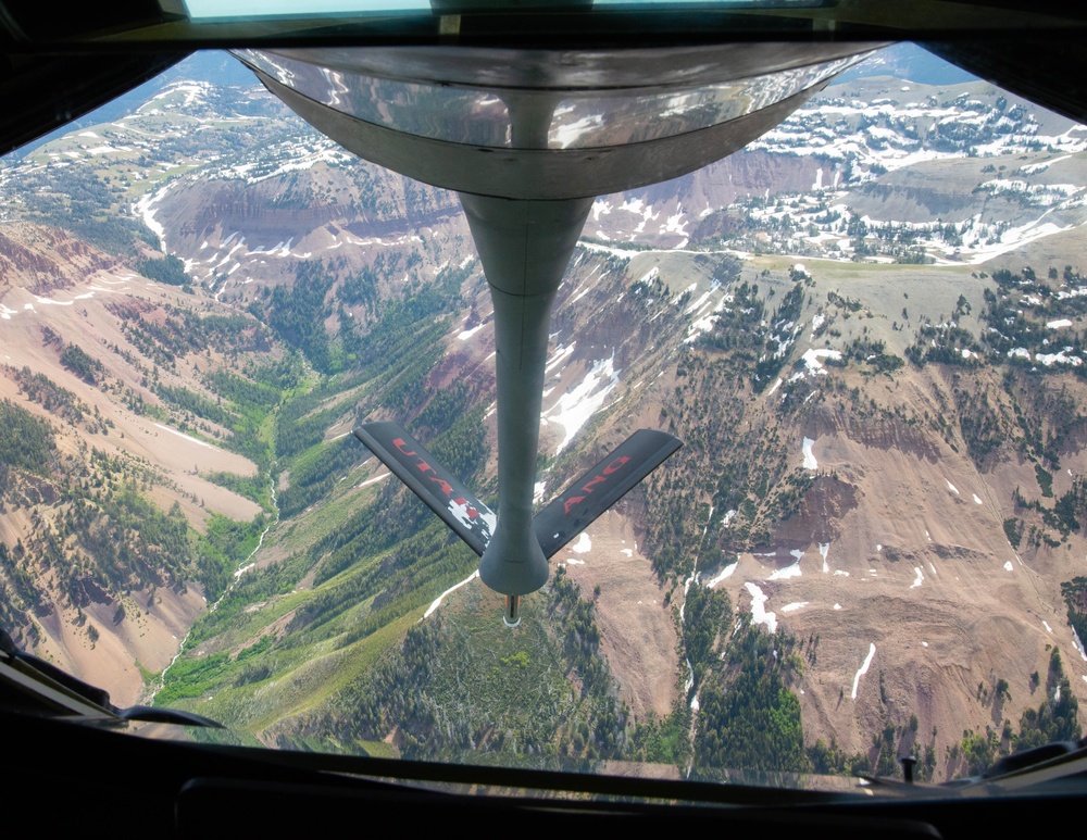
<instances>
[{"instance_id":1,"label":"snow-patched mountain landscape with green valley seen through the window","mask_svg":"<svg viewBox=\"0 0 1087 840\"><path fill-rule=\"evenodd\" d=\"M1087 703L1087 128L898 47L594 206L540 505L684 448L503 626L350 434L493 502L492 312L452 193L222 55L3 161L0 623L245 742L944 780ZM892 75L882 75L882 74Z\"/></svg>"}]
</instances>

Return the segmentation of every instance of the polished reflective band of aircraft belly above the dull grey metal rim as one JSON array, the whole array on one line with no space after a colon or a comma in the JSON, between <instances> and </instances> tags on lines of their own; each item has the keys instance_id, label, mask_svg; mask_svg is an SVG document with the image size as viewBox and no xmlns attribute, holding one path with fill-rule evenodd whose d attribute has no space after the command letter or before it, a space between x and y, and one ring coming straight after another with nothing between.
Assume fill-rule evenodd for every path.
<instances>
[{"instance_id":1,"label":"polished reflective band of aircraft belly above the dull grey metal rim","mask_svg":"<svg viewBox=\"0 0 1087 840\"><path fill-rule=\"evenodd\" d=\"M280 85L371 125L442 142L536 151L647 142L721 125L815 88L863 58L842 55L841 48L827 55L825 46L759 48L786 58L770 62L778 65L773 72L750 73L750 45L673 51L664 84L646 70L662 61L655 51L603 58L510 52L498 64L504 76L493 64L454 63L446 77L439 50L416 51L412 73L396 75L373 50L237 54ZM625 64L619 86L614 79L600 85L604 64Z\"/></svg>"}]
</instances>

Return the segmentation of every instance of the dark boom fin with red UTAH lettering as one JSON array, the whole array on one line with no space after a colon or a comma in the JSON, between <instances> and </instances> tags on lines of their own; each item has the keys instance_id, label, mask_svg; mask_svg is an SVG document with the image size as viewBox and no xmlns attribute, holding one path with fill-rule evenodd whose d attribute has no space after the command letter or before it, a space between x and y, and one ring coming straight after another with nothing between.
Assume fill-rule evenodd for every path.
<instances>
[{"instance_id":1,"label":"dark boom fin with red UTAH lettering","mask_svg":"<svg viewBox=\"0 0 1087 840\"><path fill-rule=\"evenodd\" d=\"M495 514L422 443L396 423L364 423L354 436L476 554L483 554L495 532Z\"/></svg>"}]
</instances>

